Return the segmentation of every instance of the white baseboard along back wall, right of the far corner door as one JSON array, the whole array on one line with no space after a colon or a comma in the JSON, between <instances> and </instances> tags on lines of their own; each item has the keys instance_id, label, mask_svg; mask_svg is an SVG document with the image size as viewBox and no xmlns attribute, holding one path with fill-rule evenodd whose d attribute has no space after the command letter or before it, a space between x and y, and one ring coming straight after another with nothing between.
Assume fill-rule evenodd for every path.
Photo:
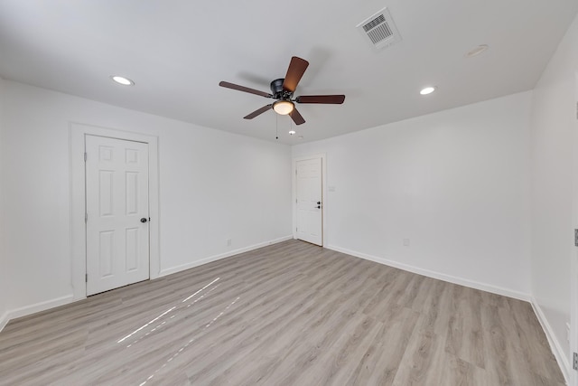
<instances>
[{"instance_id":1,"label":"white baseboard along back wall, right of the far corner door","mask_svg":"<svg viewBox=\"0 0 578 386\"><path fill-rule=\"evenodd\" d=\"M486 283L480 283L478 281L468 280L466 278L457 278L457 277L454 277L451 275L446 275L446 274L443 274L440 272L435 272L435 271L432 271L429 269L417 268L417 267L410 266L407 264L399 263L397 261L378 258L377 256L368 255L366 253L361 253L361 252L357 252L355 250L345 249L345 248L337 247L334 245L328 245L325 248L336 250L338 252L345 253L345 254L348 254L351 256L355 256L356 258L375 261L376 263L384 264L384 265L389 266L389 267L403 269L403 270L406 270L409 272L416 273L418 275L426 276L428 278L437 278L439 280L447 281L447 282L453 283L453 284L458 284L460 286L471 287L471 288L475 288L475 289L480 289L481 291L491 292L492 294L498 294L498 295L503 295L505 297L513 297L513 298L519 299L519 300L530 301L530 295L529 294L525 294L523 292L518 292L518 291L515 291L512 289L498 287L498 286L492 286L492 285L489 285Z\"/></svg>"}]
</instances>

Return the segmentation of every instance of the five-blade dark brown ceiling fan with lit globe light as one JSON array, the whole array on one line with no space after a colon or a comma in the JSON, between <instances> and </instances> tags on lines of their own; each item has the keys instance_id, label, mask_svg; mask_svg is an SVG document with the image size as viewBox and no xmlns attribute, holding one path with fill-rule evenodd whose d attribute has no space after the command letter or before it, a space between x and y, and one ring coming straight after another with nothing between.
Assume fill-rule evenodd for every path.
<instances>
[{"instance_id":1,"label":"five-blade dark brown ceiling fan with lit globe light","mask_svg":"<svg viewBox=\"0 0 578 386\"><path fill-rule=\"evenodd\" d=\"M297 108L295 108L294 102L340 105L345 100L345 95L302 95L294 98L293 94L297 88L297 84L303 77L303 73L307 70L308 66L309 61L305 61L296 56L291 58L285 77L271 82L271 94L259 91L258 89L249 89L245 86L229 83L228 81L219 82L219 86L227 89L238 89L239 91L249 92L265 98L276 99L275 102L256 109L244 117L245 119L253 119L273 108L277 114L289 115L294 120L295 125L301 125L305 123L305 119L303 119L302 115L297 111Z\"/></svg>"}]
</instances>

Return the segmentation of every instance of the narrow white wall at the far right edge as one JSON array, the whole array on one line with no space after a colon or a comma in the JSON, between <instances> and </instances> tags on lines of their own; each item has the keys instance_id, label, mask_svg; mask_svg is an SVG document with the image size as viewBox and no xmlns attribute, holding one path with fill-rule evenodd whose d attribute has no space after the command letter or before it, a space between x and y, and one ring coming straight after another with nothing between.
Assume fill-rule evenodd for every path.
<instances>
[{"instance_id":1,"label":"narrow white wall at the far right edge","mask_svg":"<svg viewBox=\"0 0 578 386\"><path fill-rule=\"evenodd\" d=\"M570 359L565 323L571 312L576 192L578 18L568 29L532 98L532 276L535 302L556 344ZM574 218L573 218L574 217ZM568 362L565 363L566 365Z\"/></svg>"}]
</instances>

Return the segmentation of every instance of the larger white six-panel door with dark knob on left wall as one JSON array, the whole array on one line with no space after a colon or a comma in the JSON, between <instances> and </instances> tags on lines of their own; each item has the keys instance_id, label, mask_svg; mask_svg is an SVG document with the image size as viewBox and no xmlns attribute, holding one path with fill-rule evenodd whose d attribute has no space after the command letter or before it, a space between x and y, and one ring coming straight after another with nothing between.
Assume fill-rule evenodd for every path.
<instances>
[{"instance_id":1,"label":"larger white six-panel door with dark knob on left wall","mask_svg":"<svg viewBox=\"0 0 578 386\"><path fill-rule=\"evenodd\" d=\"M87 295L149 278L148 144L85 137Z\"/></svg>"}]
</instances>

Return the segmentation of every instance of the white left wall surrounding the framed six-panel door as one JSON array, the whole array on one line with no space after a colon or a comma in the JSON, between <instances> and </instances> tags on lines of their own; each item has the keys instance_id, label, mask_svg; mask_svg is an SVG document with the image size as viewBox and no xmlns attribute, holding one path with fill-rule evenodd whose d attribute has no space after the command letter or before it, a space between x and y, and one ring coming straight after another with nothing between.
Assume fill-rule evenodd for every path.
<instances>
[{"instance_id":1,"label":"white left wall surrounding the framed six-panel door","mask_svg":"<svg viewBox=\"0 0 578 386\"><path fill-rule=\"evenodd\" d=\"M71 295L70 121L159 137L162 270L291 235L289 146L12 81L3 95L12 311Z\"/></svg>"}]
</instances>

